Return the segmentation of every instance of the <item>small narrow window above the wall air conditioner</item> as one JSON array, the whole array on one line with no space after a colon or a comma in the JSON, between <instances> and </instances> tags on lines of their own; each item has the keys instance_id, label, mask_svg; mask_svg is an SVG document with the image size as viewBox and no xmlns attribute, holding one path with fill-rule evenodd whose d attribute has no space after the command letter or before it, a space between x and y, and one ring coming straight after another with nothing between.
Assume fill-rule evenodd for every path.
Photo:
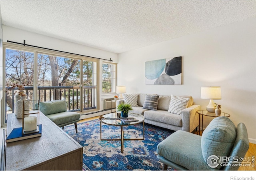
<instances>
[{"instance_id":1,"label":"small narrow window above the wall air conditioner","mask_svg":"<svg viewBox=\"0 0 256 180\"><path fill-rule=\"evenodd\" d=\"M116 64L102 63L102 93L116 92Z\"/></svg>"}]
</instances>

